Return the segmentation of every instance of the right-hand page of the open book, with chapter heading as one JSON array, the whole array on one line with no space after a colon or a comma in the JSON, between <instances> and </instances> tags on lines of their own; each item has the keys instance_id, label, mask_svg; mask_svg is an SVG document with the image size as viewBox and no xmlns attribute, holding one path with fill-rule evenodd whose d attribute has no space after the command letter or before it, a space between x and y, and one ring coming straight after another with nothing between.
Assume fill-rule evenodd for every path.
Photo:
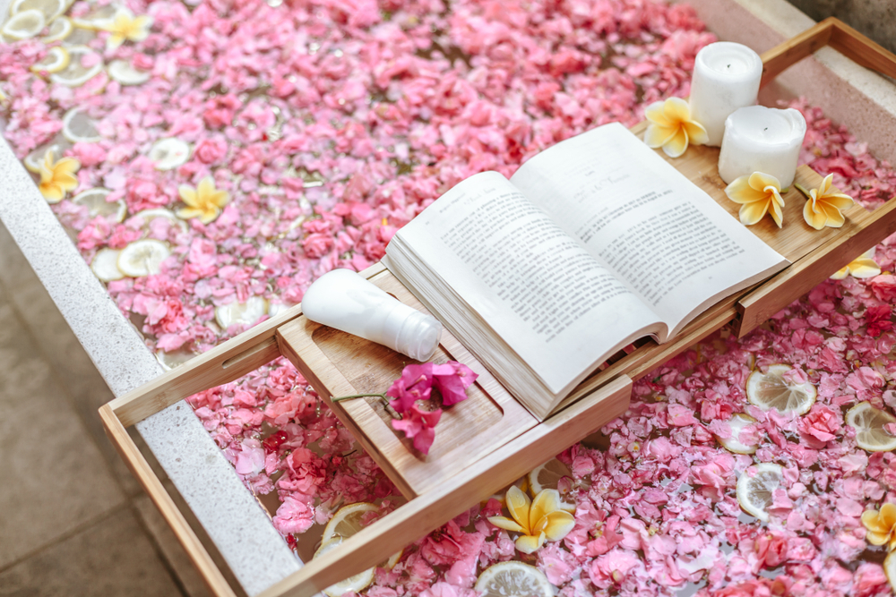
<instances>
[{"instance_id":1,"label":"right-hand page of the open book, with chapter heading","mask_svg":"<svg viewBox=\"0 0 896 597\"><path fill-rule=\"evenodd\" d=\"M787 263L621 124L558 143L511 181L671 333Z\"/></svg>"}]
</instances>

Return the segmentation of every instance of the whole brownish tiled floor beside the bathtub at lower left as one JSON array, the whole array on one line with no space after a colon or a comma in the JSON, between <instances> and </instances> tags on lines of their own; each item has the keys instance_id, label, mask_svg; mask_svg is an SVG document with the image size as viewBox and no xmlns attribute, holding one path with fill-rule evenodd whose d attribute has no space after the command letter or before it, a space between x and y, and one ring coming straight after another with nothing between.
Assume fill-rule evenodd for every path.
<instances>
[{"instance_id":1,"label":"whole brownish tiled floor beside the bathtub at lower left","mask_svg":"<svg viewBox=\"0 0 896 597\"><path fill-rule=\"evenodd\" d=\"M108 443L112 398L0 225L0 596L205 596Z\"/></svg>"}]
</instances>

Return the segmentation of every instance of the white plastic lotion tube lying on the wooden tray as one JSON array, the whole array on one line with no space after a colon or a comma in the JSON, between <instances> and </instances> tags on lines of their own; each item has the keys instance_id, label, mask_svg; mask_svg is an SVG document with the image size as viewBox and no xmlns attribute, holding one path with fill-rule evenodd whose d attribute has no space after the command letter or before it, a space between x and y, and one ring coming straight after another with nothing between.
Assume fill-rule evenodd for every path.
<instances>
[{"instance_id":1,"label":"white plastic lotion tube lying on the wooden tray","mask_svg":"<svg viewBox=\"0 0 896 597\"><path fill-rule=\"evenodd\" d=\"M395 300L382 288L350 269L333 269L319 277L302 298L302 312L312 321L360 336L426 361L439 345L442 324Z\"/></svg>"}]
</instances>

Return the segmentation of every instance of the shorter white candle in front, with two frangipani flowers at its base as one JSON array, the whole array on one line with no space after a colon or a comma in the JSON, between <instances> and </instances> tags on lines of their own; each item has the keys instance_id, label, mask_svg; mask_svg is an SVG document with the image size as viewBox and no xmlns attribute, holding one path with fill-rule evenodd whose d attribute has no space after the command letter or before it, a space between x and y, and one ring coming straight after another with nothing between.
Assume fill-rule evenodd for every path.
<instances>
[{"instance_id":1,"label":"shorter white candle in front, with two frangipani flowers at its base","mask_svg":"<svg viewBox=\"0 0 896 597\"><path fill-rule=\"evenodd\" d=\"M719 175L730 183L738 176L763 172L777 178L781 189L786 189L797 173L805 136L806 119L792 107L739 108L725 121Z\"/></svg>"}]
</instances>

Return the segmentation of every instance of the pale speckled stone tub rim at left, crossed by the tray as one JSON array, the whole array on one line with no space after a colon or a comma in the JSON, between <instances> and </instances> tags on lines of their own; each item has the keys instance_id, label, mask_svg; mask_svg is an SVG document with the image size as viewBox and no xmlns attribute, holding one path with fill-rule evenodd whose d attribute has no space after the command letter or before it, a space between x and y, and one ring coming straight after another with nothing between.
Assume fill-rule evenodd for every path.
<instances>
[{"instance_id":1,"label":"pale speckled stone tub rim at left, crossed by the tray","mask_svg":"<svg viewBox=\"0 0 896 597\"><path fill-rule=\"evenodd\" d=\"M162 372L5 141L0 219L116 396ZM172 405L138 423L137 430L246 593L261 593L301 567L188 405Z\"/></svg>"}]
</instances>

